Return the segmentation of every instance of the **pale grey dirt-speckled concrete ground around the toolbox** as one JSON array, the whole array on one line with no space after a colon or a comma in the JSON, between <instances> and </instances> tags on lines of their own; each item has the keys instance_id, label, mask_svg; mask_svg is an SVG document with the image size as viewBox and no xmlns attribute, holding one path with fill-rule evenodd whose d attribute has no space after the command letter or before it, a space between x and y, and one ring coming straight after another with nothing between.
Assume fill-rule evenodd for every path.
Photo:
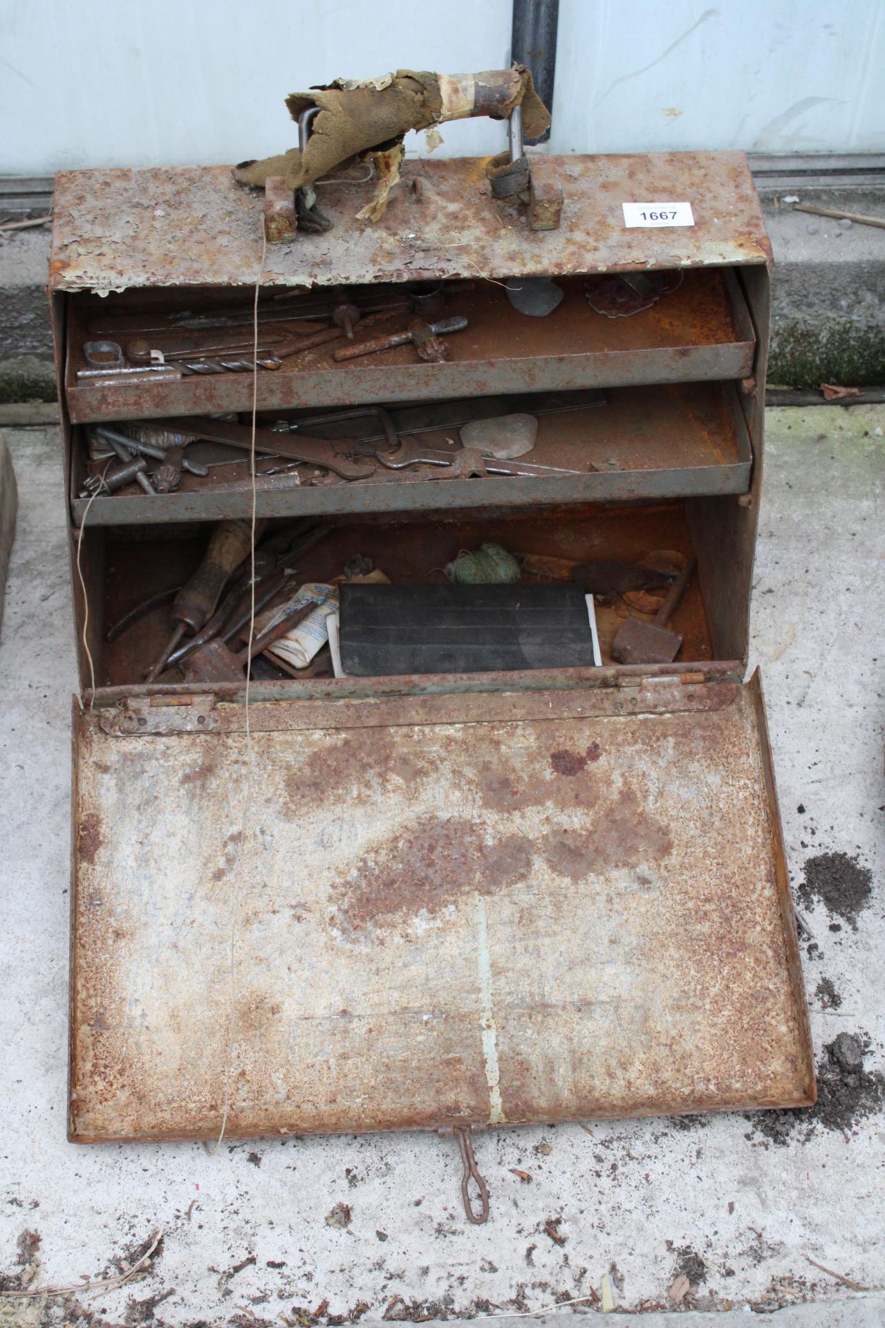
<instances>
[{"instance_id":1,"label":"pale grey dirt-speckled concrete ground around the toolbox","mask_svg":"<svg viewBox=\"0 0 885 1328\"><path fill-rule=\"evenodd\" d=\"M604 1275L647 1324L663 1323L654 1311L673 1307L679 1275L695 1328L782 1305L780 1328L885 1323L885 408L770 414L752 656L815 938L803 963L820 1104L491 1131L476 1141L492 1197L479 1228L456 1150L435 1135L226 1141L216 1155L66 1142L74 656L60 446L53 429L9 430L21 505L0 647L0 1287L113 1276L163 1235L127 1286L0 1296L0 1325L496 1317L598 1293ZM349 1212L330 1220L337 1206Z\"/></svg>"}]
</instances>

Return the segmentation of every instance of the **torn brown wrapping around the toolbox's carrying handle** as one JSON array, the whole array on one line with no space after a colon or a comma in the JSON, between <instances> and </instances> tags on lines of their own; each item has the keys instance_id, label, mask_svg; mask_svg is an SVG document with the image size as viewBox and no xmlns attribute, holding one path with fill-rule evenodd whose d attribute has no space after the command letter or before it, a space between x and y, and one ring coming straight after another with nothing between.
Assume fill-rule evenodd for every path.
<instances>
[{"instance_id":1,"label":"torn brown wrapping around the toolbox's carrying handle","mask_svg":"<svg viewBox=\"0 0 885 1328\"><path fill-rule=\"evenodd\" d=\"M287 106L296 121L305 110L318 109L304 153L292 149L243 162L234 169L241 185L264 185L268 175L284 175L288 189L301 189L356 157L390 150L411 129L430 129L446 120L507 120L521 106L523 133L529 139L540 138L551 124L524 65L478 74L398 69L365 82L336 80L325 88L292 93Z\"/></svg>"}]
</instances>

